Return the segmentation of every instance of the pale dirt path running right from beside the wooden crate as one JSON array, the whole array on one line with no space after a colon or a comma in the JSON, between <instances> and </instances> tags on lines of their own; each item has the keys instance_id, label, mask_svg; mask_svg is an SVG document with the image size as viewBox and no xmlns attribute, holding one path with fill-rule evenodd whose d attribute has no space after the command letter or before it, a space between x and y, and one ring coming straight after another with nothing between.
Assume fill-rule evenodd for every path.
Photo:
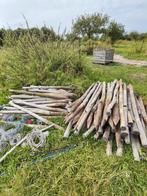
<instances>
[{"instance_id":1,"label":"pale dirt path running right from beside the wooden crate","mask_svg":"<svg viewBox=\"0 0 147 196\"><path fill-rule=\"evenodd\" d=\"M119 54L114 55L114 62L121 63L124 65L147 66L147 61L126 59Z\"/></svg>"}]
</instances>

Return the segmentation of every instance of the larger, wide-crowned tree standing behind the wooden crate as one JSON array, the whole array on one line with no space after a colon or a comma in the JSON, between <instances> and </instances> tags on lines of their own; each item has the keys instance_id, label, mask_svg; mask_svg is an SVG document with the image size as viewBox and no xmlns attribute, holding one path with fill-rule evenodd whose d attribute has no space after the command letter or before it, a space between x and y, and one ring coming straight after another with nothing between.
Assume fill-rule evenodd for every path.
<instances>
[{"instance_id":1,"label":"larger, wide-crowned tree standing behind the wooden crate","mask_svg":"<svg viewBox=\"0 0 147 196\"><path fill-rule=\"evenodd\" d=\"M72 34L75 37L87 37L88 39L98 37L99 34L105 32L108 21L109 17L101 13L82 15L73 22Z\"/></svg>"}]
</instances>

